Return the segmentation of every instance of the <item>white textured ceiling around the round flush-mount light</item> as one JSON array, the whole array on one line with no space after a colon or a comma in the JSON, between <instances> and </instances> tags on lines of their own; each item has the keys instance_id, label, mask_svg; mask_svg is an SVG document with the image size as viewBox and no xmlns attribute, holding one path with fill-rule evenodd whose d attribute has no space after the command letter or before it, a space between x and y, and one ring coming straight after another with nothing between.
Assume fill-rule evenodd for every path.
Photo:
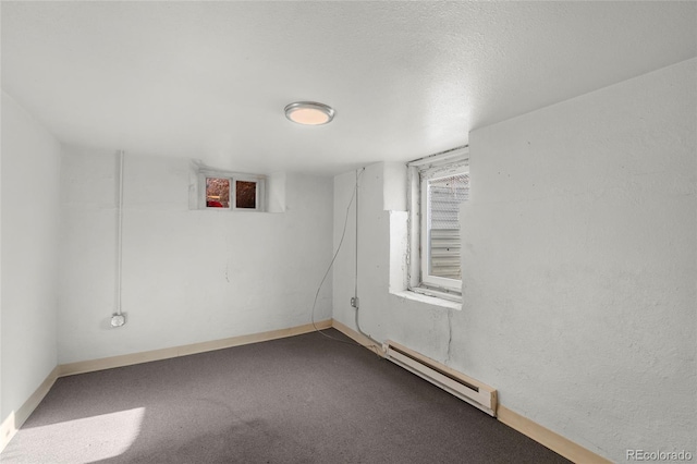
<instances>
[{"instance_id":1,"label":"white textured ceiling around the round flush-mount light","mask_svg":"<svg viewBox=\"0 0 697 464\"><path fill-rule=\"evenodd\" d=\"M8 2L2 88L61 142L333 174L697 56L696 2ZM285 120L332 106L323 126Z\"/></svg>"}]
</instances>

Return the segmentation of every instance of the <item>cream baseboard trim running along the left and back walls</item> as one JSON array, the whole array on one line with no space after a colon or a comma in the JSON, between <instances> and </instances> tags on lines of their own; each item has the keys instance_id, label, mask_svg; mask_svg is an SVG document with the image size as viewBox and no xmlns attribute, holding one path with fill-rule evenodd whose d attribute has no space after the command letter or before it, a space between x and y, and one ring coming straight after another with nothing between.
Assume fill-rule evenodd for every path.
<instances>
[{"instance_id":1,"label":"cream baseboard trim running along the left and back walls","mask_svg":"<svg viewBox=\"0 0 697 464\"><path fill-rule=\"evenodd\" d=\"M44 382L36 389L34 393L24 402L24 404L15 412L12 411L0 425L0 452L4 450L10 440L15 436L20 427L32 415L36 406L39 405L44 396L53 387L56 380L60 377L73 376L76 374L94 373L97 370L111 369L114 367L131 366L134 364L148 363L150 361L161 361L178 356L186 356L189 354L205 353L208 351L222 350L232 346L246 345L250 343L266 342L269 340L283 339L286 337L299 335L303 333L314 332L316 329L329 329L332 327L332 320L321 320L303 326L291 327L289 329L270 330L268 332L253 333L249 335L232 337L229 339L213 340L210 342L193 343L189 345L174 346L162 350L152 350L142 353L125 354L121 356L111 356L100 359L81 361L77 363L69 363L56 366L53 370L46 377Z\"/></svg>"}]
</instances>

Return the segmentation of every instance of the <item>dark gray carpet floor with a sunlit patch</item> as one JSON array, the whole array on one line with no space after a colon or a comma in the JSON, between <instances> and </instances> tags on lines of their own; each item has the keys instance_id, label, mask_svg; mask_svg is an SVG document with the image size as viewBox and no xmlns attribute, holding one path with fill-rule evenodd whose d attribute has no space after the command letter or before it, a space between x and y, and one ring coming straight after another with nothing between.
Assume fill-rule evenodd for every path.
<instances>
[{"instance_id":1,"label":"dark gray carpet floor with a sunlit patch","mask_svg":"<svg viewBox=\"0 0 697 464\"><path fill-rule=\"evenodd\" d=\"M58 379L0 461L568 462L319 333Z\"/></svg>"}]
</instances>

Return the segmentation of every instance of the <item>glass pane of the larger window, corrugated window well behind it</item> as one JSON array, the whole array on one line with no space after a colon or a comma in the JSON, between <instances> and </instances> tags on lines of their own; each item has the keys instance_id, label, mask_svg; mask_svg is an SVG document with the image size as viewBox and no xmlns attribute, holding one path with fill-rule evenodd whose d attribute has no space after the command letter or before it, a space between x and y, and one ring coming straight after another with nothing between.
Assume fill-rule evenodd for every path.
<instances>
[{"instance_id":1,"label":"glass pane of the larger window, corrugated window well behind it","mask_svg":"<svg viewBox=\"0 0 697 464\"><path fill-rule=\"evenodd\" d=\"M460 204L467 199L469 174L428 181L429 274L462 279L460 262Z\"/></svg>"}]
</instances>

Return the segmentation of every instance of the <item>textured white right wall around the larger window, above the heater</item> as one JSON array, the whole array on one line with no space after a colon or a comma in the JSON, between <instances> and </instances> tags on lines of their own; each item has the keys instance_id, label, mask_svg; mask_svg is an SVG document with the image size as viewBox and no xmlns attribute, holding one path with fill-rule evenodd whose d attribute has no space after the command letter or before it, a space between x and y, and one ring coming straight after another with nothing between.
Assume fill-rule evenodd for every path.
<instances>
[{"instance_id":1,"label":"textured white right wall around the larger window, above the heater","mask_svg":"<svg viewBox=\"0 0 697 464\"><path fill-rule=\"evenodd\" d=\"M491 384L509 408L613 461L634 448L695 455L696 66L470 134L462 310L388 293L402 213L384 211L392 168L368 167L363 329ZM334 178L335 243L353 178ZM346 240L334 317L355 328Z\"/></svg>"}]
</instances>

